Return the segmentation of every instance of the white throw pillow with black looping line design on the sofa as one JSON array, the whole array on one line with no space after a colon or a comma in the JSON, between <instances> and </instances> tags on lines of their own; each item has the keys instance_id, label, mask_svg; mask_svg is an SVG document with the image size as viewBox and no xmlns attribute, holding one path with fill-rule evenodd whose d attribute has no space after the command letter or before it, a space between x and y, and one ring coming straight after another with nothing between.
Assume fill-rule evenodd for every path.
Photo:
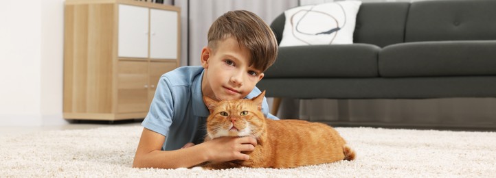
<instances>
[{"instance_id":1,"label":"white throw pillow with black looping line design on the sofa","mask_svg":"<svg viewBox=\"0 0 496 178\"><path fill-rule=\"evenodd\" d=\"M286 23L279 46L352 44L360 5L361 1L338 1L284 11Z\"/></svg>"}]
</instances>

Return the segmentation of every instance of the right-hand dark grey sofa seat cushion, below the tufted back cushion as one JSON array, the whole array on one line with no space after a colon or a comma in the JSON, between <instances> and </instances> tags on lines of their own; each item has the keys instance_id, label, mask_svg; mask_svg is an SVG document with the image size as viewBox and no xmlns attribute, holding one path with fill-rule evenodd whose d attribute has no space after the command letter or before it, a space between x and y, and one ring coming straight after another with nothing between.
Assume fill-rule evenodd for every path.
<instances>
[{"instance_id":1,"label":"right-hand dark grey sofa seat cushion, below the tufted back cushion","mask_svg":"<svg viewBox=\"0 0 496 178\"><path fill-rule=\"evenodd\" d=\"M496 40L407 42L379 53L381 77L496 75Z\"/></svg>"}]
</instances>

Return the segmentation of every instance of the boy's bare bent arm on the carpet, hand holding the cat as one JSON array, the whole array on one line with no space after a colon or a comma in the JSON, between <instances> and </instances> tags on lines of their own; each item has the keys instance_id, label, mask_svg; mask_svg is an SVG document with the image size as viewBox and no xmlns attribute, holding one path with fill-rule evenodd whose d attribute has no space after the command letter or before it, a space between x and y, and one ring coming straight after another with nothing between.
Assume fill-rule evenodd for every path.
<instances>
[{"instance_id":1,"label":"boy's bare bent arm on the carpet, hand holding the cat","mask_svg":"<svg viewBox=\"0 0 496 178\"><path fill-rule=\"evenodd\" d=\"M241 151L253 151L256 145L255 138L224 137L185 149L161 151L165 140L165 136L144 128L142 137L139 139L133 167L189 168L207 161L248 160L249 156Z\"/></svg>"}]
</instances>

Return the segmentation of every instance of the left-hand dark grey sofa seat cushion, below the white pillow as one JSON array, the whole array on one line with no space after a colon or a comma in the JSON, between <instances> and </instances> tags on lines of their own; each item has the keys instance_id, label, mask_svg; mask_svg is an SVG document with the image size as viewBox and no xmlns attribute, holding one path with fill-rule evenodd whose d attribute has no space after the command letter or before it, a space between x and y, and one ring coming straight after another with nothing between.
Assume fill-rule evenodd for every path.
<instances>
[{"instance_id":1,"label":"left-hand dark grey sofa seat cushion, below the white pillow","mask_svg":"<svg viewBox=\"0 0 496 178\"><path fill-rule=\"evenodd\" d=\"M377 77L380 50L373 44L280 47L265 77Z\"/></svg>"}]
</instances>

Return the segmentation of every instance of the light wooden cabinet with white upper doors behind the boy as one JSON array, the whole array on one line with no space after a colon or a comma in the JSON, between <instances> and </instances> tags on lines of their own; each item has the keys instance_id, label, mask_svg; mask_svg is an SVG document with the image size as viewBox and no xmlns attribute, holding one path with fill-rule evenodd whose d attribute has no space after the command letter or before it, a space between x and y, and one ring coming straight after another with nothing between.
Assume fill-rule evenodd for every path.
<instances>
[{"instance_id":1,"label":"light wooden cabinet with white upper doors behind the boy","mask_svg":"<svg viewBox=\"0 0 496 178\"><path fill-rule=\"evenodd\" d=\"M64 118L144 118L160 76L180 64L179 14L143 1L66 1Z\"/></svg>"}]
</instances>

